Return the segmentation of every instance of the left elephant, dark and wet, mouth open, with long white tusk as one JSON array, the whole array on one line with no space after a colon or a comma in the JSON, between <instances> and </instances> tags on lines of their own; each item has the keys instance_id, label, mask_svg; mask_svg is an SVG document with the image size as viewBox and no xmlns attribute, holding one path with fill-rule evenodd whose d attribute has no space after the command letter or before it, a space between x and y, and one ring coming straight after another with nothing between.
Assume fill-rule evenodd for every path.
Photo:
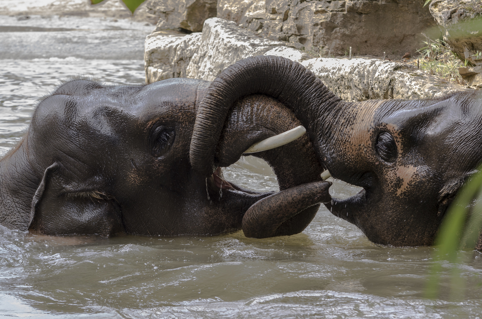
<instances>
[{"instance_id":1,"label":"left elephant, dark and wet, mouth open, with long white tusk","mask_svg":"<svg viewBox=\"0 0 482 319\"><path fill-rule=\"evenodd\" d=\"M0 160L0 223L43 235L201 236L244 227L271 237L304 230L320 203L331 200L307 134L253 153L272 166L276 193L226 181L220 166L209 167L209 175L192 168L193 127L210 85L186 78L60 85ZM266 95L233 101L227 119L217 150L230 160L300 125Z\"/></svg>"}]
</instances>

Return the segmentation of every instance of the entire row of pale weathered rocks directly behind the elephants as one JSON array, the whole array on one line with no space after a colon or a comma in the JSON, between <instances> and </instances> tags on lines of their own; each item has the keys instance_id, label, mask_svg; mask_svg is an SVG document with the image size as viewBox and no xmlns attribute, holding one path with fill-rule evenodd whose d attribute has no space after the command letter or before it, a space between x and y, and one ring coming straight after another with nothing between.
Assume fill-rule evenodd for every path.
<instances>
[{"instance_id":1,"label":"entire row of pale weathered rocks directly behind the elephants","mask_svg":"<svg viewBox=\"0 0 482 319\"><path fill-rule=\"evenodd\" d=\"M213 80L230 64L265 54L300 62L347 101L433 98L464 89L410 64L367 58L310 58L306 52L283 44L220 18L206 20L202 33L156 32L146 38L146 82L170 77Z\"/></svg>"}]
</instances>

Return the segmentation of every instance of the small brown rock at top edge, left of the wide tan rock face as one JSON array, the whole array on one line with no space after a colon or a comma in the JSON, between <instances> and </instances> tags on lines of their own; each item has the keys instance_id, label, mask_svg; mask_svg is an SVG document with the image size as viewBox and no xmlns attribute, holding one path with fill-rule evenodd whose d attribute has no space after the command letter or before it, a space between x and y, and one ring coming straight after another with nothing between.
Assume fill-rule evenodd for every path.
<instances>
[{"instance_id":1,"label":"small brown rock at top edge, left of the wide tan rock face","mask_svg":"<svg viewBox=\"0 0 482 319\"><path fill-rule=\"evenodd\" d=\"M216 0L147 0L150 13L159 16L155 31L183 28L202 30L207 18L216 16Z\"/></svg>"}]
</instances>

